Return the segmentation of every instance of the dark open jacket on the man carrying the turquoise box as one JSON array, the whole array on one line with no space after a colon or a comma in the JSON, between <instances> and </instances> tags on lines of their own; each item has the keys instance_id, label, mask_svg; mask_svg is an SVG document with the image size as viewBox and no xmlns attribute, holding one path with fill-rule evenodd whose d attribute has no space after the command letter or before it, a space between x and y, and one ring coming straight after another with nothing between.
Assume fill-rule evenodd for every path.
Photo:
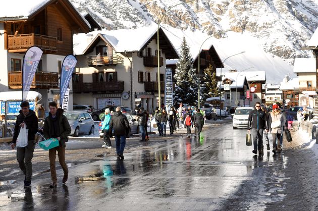
<instances>
[{"instance_id":1,"label":"dark open jacket on the man carrying the turquoise box","mask_svg":"<svg viewBox=\"0 0 318 211\"><path fill-rule=\"evenodd\" d=\"M60 145L65 146L65 141L70 135L72 129L69 121L63 115L63 110L58 109L56 114L57 121L57 131L54 129L54 120L52 119L51 113L48 113L48 117L45 118L43 135L46 139L60 137ZM54 137L55 136L55 137Z\"/></svg>"}]
</instances>

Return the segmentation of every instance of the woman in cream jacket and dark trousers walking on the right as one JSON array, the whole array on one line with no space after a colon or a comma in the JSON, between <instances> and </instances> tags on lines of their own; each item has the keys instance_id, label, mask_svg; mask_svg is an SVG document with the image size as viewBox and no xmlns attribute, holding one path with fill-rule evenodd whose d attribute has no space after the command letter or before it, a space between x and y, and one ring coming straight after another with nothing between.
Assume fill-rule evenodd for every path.
<instances>
[{"instance_id":1,"label":"woman in cream jacket and dark trousers walking on the right","mask_svg":"<svg viewBox=\"0 0 318 211\"><path fill-rule=\"evenodd\" d=\"M282 114L280 108L277 104L273 105L273 111L269 115L268 128L270 128L270 133L273 137L273 152L276 153L276 150L280 152L282 146L280 143L280 138L283 133L283 127L286 122L285 115ZM276 140L277 145L276 145Z\"/></svg>"}]
</instances>

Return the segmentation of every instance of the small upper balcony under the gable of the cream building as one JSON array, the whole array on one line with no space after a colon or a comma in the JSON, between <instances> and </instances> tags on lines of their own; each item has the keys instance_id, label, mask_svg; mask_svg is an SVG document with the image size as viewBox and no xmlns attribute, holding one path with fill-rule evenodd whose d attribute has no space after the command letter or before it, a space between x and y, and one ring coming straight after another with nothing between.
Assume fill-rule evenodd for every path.
<instances>
[{"instance_id":1,"label":"small upper balcony under the gable of the cream building","mask_svg":"<svg viewBox=\"0 0 318 211\"><path fill-rule=\"evenodd\" d=\"M124 59L120 56L113 56L108 57L106 55L102 56L87 56L87 66L93 67L93 66L110 66L110 65L117 65L117 64L123 64Z\"/></svg>"}]
</instances>

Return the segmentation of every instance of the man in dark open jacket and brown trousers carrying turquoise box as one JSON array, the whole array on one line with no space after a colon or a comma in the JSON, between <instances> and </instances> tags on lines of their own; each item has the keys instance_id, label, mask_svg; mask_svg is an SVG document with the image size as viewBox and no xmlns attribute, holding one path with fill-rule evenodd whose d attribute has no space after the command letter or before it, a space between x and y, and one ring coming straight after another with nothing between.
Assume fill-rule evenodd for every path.
<instances>
[{"instance_id":1,"label":"man in dark open jacket and brown trousers carrying turquoise box","mask_svg":"<svg viewBox=\"0 0 318 211\"><path fill-rule=\"evenodd\" d=\"M67 118L63 115L63 110L58 109L58 105L55 101L48 103L49 114L45 118L43 135L46 139L56 138L59 140L59 146L48 150L49 168L51 171L52 184L50 188L57 187L57 172L55 169L55 160L58 151L59 163L63 169L64 177L62 179L63 184L68 179L69 170L65 163L65 142L71 133L71 126Z\"/></svg>"}]
</instances>

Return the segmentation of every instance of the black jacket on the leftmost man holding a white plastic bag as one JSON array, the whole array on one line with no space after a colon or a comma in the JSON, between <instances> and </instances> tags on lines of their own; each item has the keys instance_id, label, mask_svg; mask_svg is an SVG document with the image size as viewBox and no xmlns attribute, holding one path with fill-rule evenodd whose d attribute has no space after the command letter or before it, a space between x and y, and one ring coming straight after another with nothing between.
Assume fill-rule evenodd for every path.
<instances>
[{"instance_id":1,"label":"black jacket on the leftmost man holding a white plastic bag","mask_svg":"<svg viewBox=\"0 0 318 211\"><path fill-rule=\"evenodd\" d=\"M24 117L24 114L20 110L19 115L16 120L16 125L14 127L14 135L12 138L12 143L17 143L17 138L20 133L20 124L24 122L26 125L26 129L28 129L28 141L35 140L35 133L37 133L37 117L35 115L35 112L33 110L29 110L29 114Z\"/></svg>"}]
</instances>

